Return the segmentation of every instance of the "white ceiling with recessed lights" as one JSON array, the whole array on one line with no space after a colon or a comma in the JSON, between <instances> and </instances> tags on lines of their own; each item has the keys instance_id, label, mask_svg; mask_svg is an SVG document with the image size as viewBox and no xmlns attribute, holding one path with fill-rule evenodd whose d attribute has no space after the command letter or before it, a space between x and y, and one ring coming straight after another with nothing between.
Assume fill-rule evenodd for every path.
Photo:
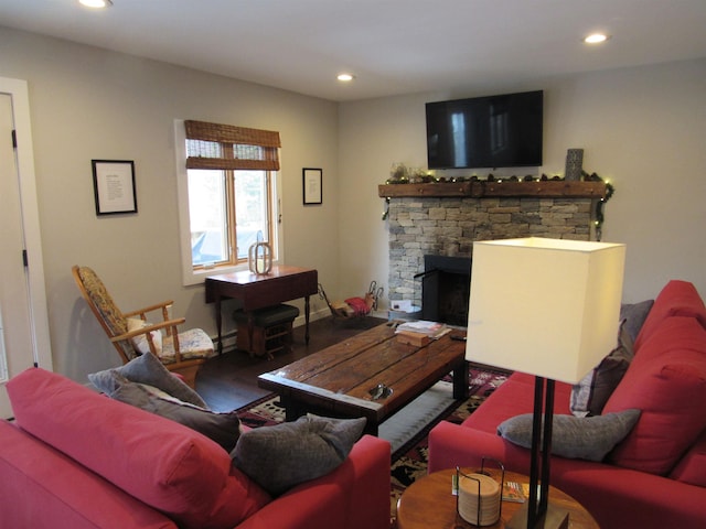
<instances>
[{"instance_id":1,"label":"white ceiling with recessed lights","mask_svg":"<svg viewBox=\"0 0 706 529\"><path fill-rule=\"evenodd\" d=\"M706 0L0 0L0 25L335 101L706 57Z\"/></svg>"}]
</instances>

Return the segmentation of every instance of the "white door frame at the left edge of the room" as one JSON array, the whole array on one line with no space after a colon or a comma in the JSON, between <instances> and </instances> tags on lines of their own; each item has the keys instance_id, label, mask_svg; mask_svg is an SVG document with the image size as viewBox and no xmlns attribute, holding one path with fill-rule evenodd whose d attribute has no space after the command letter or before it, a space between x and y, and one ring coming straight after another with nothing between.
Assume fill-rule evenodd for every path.
<instances>
[{"instance_id":1,"label":"white door frame at the left edge of the room","mask_svg":"<svg viewBox=\"0 0 706 529\"><path fill-rule=\"evenodd\" d=\"M22 227L29 263L26 274L32 320L32 355L38 366L53 370L26 80L0 77L0 93L8 94L12 98L12 116L18 145L15 156L22 203ZM9 374L10 377L12 375L17 374Z\"/></svg>"}]
</instances>

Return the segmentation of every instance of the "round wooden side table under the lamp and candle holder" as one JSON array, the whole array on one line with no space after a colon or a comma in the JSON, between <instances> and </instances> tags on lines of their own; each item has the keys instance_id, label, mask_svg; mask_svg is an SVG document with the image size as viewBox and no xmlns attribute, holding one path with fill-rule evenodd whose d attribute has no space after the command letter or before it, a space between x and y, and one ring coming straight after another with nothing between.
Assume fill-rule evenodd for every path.
<instances>
[{"instance_id":1,"label":"round wooden side table under the lamp and candle holder","mask_svg":"<svg viewBox=\"0 0 706 529\"><path fill-rule=\"evenodd\" d=\"M463 472L470 473L468 468ZM473 526L456 512L456 496L451 494L451 479L456 469L446 469L428 474L413 483L403 493L397 504L397 529L473 529ZM490 474L500 481L500 471L490 469ZM530 477L514 472L505 472L506 482L530 483ZM569 528L599 529L593 517L581 504L568 494L549 486L549 500L569 512ZM500 520L490 529L502 529L520 510L522 504L503 501Z\"/></svg>"}]
</instances>

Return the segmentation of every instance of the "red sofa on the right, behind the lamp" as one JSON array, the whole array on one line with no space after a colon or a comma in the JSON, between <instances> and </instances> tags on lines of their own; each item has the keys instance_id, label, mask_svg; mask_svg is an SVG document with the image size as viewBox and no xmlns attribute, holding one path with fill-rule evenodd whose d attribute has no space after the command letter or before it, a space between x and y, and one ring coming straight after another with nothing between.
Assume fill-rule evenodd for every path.
<instances>
[{"instance_id":1,"label":"red sofa on the right, behind the lamp","mask_svg":"<svg viewBox=\"0 0 706 529\"><path fill-rule=\"evenodd\" d=\"M552 456L552 485L580 501L602 529L706 527L706 309L693 284L671 281L634 341L634 357L602 414L640 419L603 461ZM532 412L534 378L512 375L462 424L429 435L429 472L477 467L482 456L528 474L530 451L499 424ZM557 382L555 413L569 414L571 386Z\"/></svg>"}]
</instances>

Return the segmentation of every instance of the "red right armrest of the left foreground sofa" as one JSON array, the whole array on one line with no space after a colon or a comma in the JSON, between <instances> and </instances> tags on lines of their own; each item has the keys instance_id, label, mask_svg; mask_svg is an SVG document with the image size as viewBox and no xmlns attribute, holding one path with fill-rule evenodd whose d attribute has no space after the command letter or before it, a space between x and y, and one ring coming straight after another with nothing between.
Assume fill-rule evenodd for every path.
<instances>
[{"instance_id":1,"label":"red right armrest of the left foreground sofa","mask_svg":"<svg viewBox=\"0 0 706 529\"><path fill-rule=\"evenodd\" d=\"M237 527L387 529L389 457L387 441L363 435L336 469L292 488Z\"/></svg>"}]
</instances>

